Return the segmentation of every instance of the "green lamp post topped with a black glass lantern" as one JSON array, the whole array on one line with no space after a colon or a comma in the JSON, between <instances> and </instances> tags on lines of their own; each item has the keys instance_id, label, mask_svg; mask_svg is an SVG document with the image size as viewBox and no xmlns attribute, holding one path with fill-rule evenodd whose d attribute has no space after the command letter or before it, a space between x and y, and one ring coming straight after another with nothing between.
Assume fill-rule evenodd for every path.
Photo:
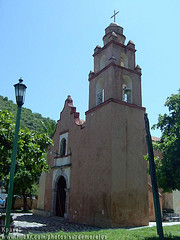
<instances>
[{"instance_id":1,"label":"green lamp post topped with a black glass lantern","mask_svg":"<svg viewBox=\"0 0 180 240\"><path fill-rule=\"evenodd\" d=\"M24 104L25 92L27 88L26 85L24 85L22 82L23 80L20 78L19 83L14 85L16 103L17 103L18 109L17 109L17 116L16 116L14 142L13 142L10 179L9 179L9 185L8 185L8 198L7 198L5 233L4 233L5 239L8 238L9 229L10 229L10 213L11 213L12 198L13 198L14 173L15 173L15 166L16 166L16 154L17 154L18 133L19 133L19 126L20 126L20 118L21 118L21 107Z\"/></svg>"}]
</instances>

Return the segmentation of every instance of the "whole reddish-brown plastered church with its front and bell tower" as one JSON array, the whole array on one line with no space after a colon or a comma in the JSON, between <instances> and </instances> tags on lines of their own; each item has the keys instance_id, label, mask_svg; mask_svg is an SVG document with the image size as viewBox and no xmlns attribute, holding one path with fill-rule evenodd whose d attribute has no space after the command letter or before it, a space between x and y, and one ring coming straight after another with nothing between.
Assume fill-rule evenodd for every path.
<instances>
[{"instance_id":1,"label":"whole reddish-brown plastered church with its front and bell tower","mask_svg":"<svg viewBox=\"0 0 180 240\"><path fill-rule=\"evenodd\" d=\"M79 118L71 96L40 178L39 214L101 227L149 224L141 69L135 45L111 23L94 49L89 109Z\"/></svg>"}]
</instances>

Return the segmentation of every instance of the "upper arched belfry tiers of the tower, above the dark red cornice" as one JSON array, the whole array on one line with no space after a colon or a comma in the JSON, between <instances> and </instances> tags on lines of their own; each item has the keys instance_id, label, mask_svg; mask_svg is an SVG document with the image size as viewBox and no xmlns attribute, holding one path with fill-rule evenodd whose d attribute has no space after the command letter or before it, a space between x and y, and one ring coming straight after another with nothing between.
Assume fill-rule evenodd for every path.
<instances>
[{"instance_id":1,"label":"upper arched belfry tiers of the tower, above the dark red cornice","mask_svg":"<svg viewBox=\"0 0 180 240\"><path fill-rule=\"evenodd\" d=\"M89 73L89 110L109 99L142 106L141 68L135 65L135 44L123 28L111 23L105 29L104 46L94 49L94 71Z\"/></svg>"}]
</instances>

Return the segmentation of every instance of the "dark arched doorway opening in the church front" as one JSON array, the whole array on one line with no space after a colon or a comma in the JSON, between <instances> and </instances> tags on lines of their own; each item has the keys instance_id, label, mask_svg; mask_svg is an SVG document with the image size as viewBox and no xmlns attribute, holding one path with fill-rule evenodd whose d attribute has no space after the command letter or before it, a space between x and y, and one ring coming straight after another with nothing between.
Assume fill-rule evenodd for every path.
<instances>
[{"instance_id":1,"label":"dark arched doorway opening in the church front","mask_svg":"<svg viewBox=\"0 0 180 240\"><path fill-rule=\"evenodd\" d=\"M61 176L57 183L56 216L64 217L66 205L66 180Z\"/></svg>"}]
</instances>

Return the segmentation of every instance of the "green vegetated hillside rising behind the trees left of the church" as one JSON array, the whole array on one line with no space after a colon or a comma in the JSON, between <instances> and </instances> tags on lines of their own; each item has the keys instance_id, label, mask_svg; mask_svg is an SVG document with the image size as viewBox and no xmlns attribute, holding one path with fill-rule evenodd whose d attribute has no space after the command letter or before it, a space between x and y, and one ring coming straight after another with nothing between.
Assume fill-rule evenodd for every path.
<instances>
[{"instance_id":1,"label":"green vegetated hillside rising behind the trees left of the church","mask_svg":"<svg viewBox=\"0 0 180 240\"><path fill-rule=\"evenodd\" d=\"M14 115L16 119L17 104L7 97L0 96L0 110L7 110ZM50 137L53 135L56 127L56 121L42 117L40 113L33 113L30 109L22 107L21 128L28 128L37 133L47 133Z\"/></svg>"}]
</instances>

